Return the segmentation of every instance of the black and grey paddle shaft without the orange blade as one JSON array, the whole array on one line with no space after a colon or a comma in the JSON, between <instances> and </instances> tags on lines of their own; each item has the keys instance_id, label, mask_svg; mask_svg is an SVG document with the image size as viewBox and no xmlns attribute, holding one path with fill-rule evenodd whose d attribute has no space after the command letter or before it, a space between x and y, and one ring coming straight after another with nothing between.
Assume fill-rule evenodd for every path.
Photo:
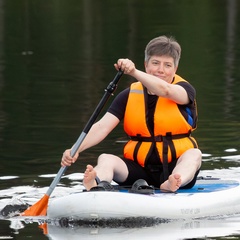
<instances>
[{"instance_id":1,"label":"black and grey paddle shaft without the orange blade","mask_svg":"<svg viewBox=\"0 0 240 240\"><path fill-rule=\"evenodd\" d=\"M123 75L123 72L122 71L118 71L116 76L114 77L113 81L110 82L109 85L107 86L107 88L105 89L105 93L104 93L101 101L98 103L96 109L94 110L92 116L88 120L88 122L87 122L86 126L84 127L82 133L78 137L76 143L73 145L73 147L71 149L71 157L73 157L77 153L80 145L82 144L83 140L87 136L89 130L91 129L91 127L94 124L94 122L96 121L98 115L100 114L100 112L103 109L104 105L106 104L107 100L109 99L109 97L116 90L117 83L120 80L122 75ZM62 175L65 173L66 169L67 169L67 166L60 168L60 170L58 171L56 177L54 178L54 180L52 181L50 187L48 188L48 190L46 192L46 195L50 196L52 194L54 188L59 183L59 181L60 181Z\"/></svg>"}]
</instances>

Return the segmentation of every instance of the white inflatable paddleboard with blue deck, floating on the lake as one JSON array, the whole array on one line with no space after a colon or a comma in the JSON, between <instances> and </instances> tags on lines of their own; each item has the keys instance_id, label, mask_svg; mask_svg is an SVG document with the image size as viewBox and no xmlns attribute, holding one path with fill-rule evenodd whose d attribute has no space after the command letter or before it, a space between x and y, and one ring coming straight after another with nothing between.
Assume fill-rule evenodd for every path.
<instances>
[{"instance_id":1,"label":"white inflatable paddleboard with blue deck, floating on the lake","mask_svg":"<svg viewBox=\"0 0 240 240\"><path fill-rule=\"evenodd\" d=\"M199 179L195 186L176 193L130 193L127 190L83 191L52 199L50 219L197 219L240 213L238 180Z\"/></svg>"}]
</instances>

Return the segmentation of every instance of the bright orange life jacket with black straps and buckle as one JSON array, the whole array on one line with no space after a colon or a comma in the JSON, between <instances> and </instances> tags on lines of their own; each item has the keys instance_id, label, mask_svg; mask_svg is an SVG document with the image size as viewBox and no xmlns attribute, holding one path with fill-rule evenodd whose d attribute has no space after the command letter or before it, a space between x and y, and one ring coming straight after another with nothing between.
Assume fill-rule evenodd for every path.
<instances>
[{"instance_id":1,"label":"bright orange life jacket with black straps and buckle","mask_svg":"<svg viewBox=\"0 0 240 240\"><path fill-rule=\"evenodd\" d=\"M172 84L180 81L186 82L175 75ZM145 166L155 145L166 167L187 149L197 148L196 140L190 136L194 128L186 121L175 102L159 97L154 112L154 133L151 133L146 120L146 94L146 88L140 82L131 84L124 116L124 131L131 140L124 147L124 157Z\"/></svg>"}]
</instances>

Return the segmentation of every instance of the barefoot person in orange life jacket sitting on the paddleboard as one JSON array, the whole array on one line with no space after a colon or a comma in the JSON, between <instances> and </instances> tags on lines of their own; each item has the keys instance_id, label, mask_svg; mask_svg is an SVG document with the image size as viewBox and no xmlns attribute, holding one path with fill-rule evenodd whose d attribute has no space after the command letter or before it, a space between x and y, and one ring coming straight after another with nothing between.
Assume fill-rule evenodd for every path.
<instances>
[{"instance_id":1,"label":"barefoot person in orange life jacket sitting on the paddleboard","mask_svg":"<svg viewBox=\"0 0 240 240\"><path fill-rule=\"evenodd\" d=\"M87 190L99 181L132 185L144 179L149 185L175 192L192 188L202 161L201 151L191 132L197 126L196 92L176 74L181 47L174 38L160 36L145 49L145 72L129 59L119 59L117 70L137 82L114 99L106 114L96 122L74 157L63 153L61 165L70 166L79 153L100 143L119 123L129 141L124 157L101 154L96 167L87 165L83 184Z\"/></svg>"}]
</instances>

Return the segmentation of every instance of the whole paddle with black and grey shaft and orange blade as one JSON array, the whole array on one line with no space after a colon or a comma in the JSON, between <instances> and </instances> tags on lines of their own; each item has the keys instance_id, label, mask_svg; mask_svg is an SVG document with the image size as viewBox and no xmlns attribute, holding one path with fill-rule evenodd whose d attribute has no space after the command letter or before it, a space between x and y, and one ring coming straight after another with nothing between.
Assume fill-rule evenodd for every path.
<instances>
[{"instance_id":1,"label":"whole paddle with black and grey shaft and orange blade","mask_svg":"<svg viewBox=\"0 0 240 240\"><path fill-rule=\"evenodd\" d=\"M71 150L71 156L73 157L76 153L80 145L82 144L84 138L86 137L87 133L89 132L90 128L92 127L93 123L96 121L99 113L103 109L105 103L107 102L110 95L113 94L117 87L117 83L122 76L123 72L119 70L114 77L113 81L109 83L107 88L105 89L105 93L97 105L95 111L93 112L92 116L90 117L88 123L84 127L82 133L80 134L79 138L77 139L76 143L74 144L72 150ZM66 171L67 167L61 167L58 171L56 177L52 181L49 189L47 190L46 194L43 196L42 199L40 199L37 203L29 207L27 210L25 210L23 213L21 213L22 216L45 216L47 213L47 206L48 206L48 199L53 192L56 185L59 183L62 175Z\"/></svg>"}]
</instances>

